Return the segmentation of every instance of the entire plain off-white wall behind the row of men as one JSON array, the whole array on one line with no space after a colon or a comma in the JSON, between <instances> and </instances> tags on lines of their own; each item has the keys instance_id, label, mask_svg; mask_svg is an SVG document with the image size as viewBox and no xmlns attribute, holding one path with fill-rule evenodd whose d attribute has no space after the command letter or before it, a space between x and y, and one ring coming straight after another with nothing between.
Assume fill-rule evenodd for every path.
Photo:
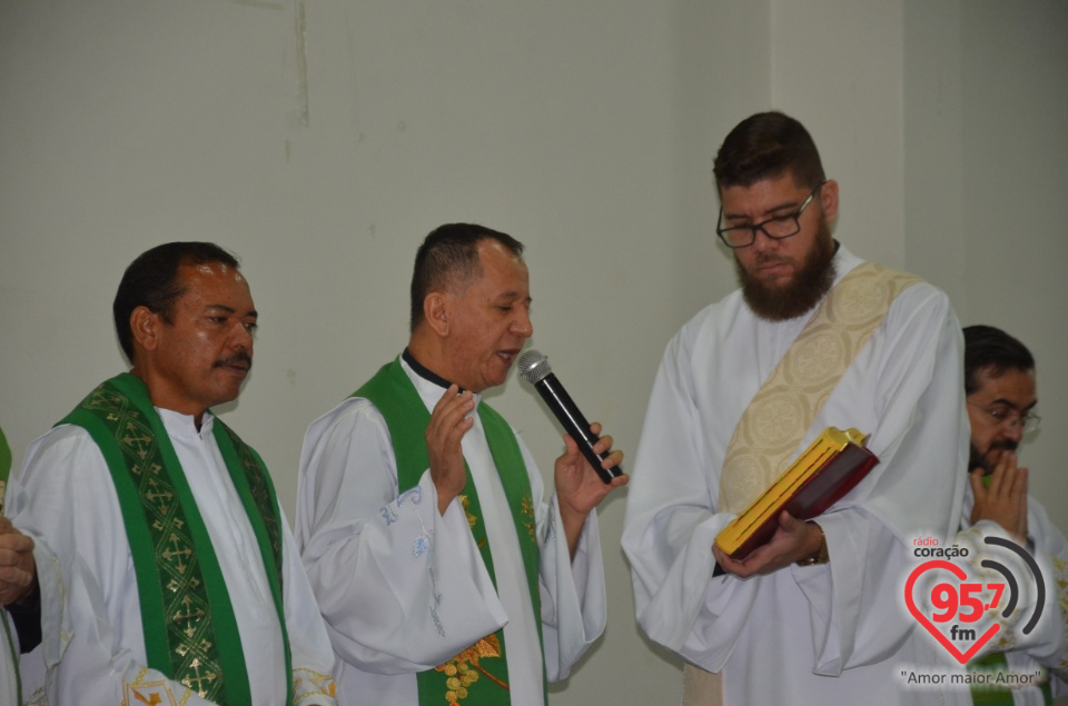
<instances>
[{"instance_id":1,"label":"entire plain off-white wall behind the row of men","mask_svg":"<svg viewBox=\"0 0 1068 706\"><path fill-rule=\"evenodd\" d=\"M225 416L291 514L308 422L400 349L415 248L469 219L527 245L532 344L633 457L668 338L734 286L712 157L774 107L841 182L851 249L1031 345L1046 431L1026 458L1068 527L1052 457L1068 416L1065 7L0 0L0 426L18 463L122 368L110 301L126 265L214 240L261 312ZM493 402L551 474L562 445L532 390L510 380ZM678 660L634 625L623 505L601 513L607 635L554 704L681 690Z\"/></svg>"}]
</instances>

